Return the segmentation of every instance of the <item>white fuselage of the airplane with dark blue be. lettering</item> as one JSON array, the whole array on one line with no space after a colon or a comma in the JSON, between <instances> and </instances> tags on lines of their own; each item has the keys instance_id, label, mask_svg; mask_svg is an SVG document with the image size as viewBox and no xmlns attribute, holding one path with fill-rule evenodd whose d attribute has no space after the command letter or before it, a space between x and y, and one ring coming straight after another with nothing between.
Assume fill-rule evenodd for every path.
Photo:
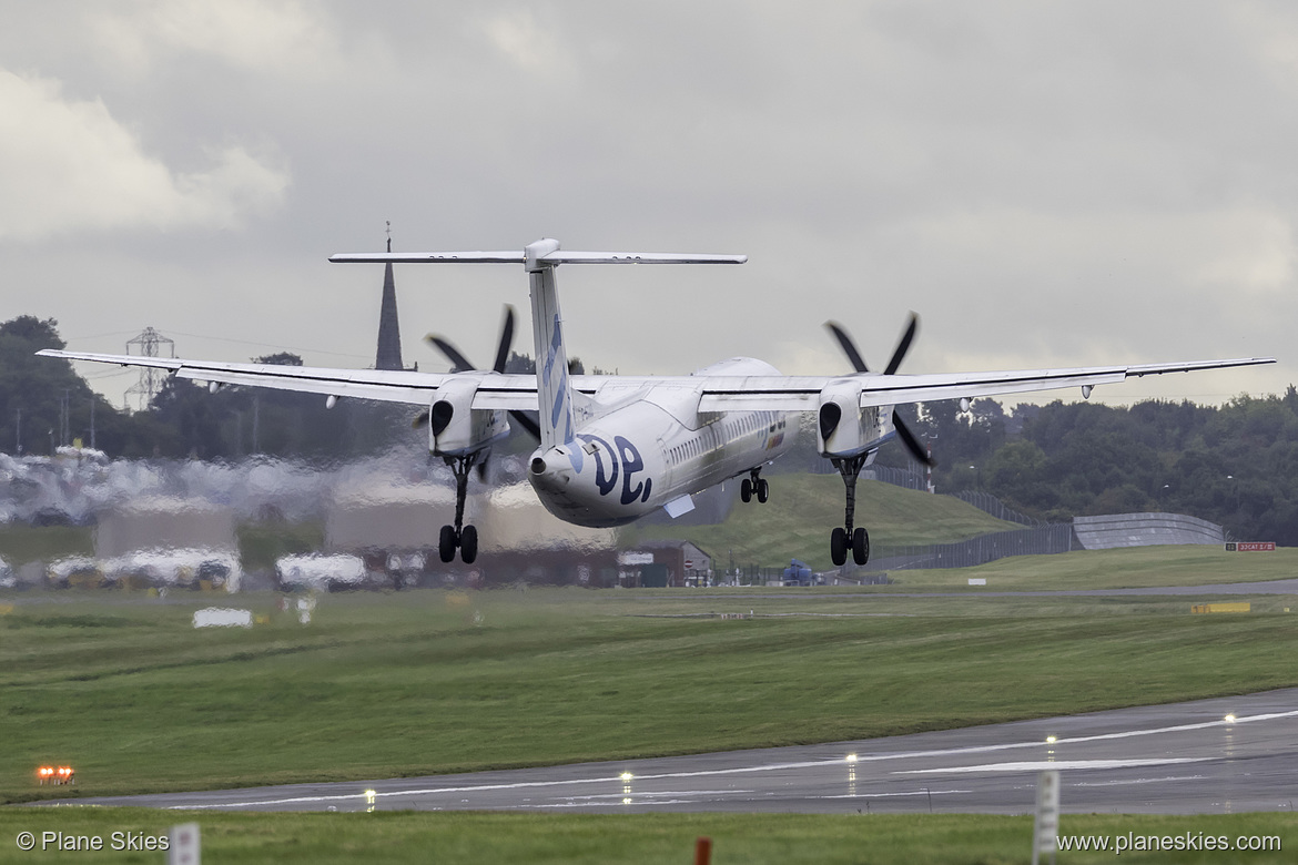
<instances>
[{"instance_id":1,"label":"white fuselage of the airplane with dark blue be. lettering","mask_svg":"<svg viewBox=\"0 0 1298 865\"><path fill-rule=\"evenodd\" d=\"M778 375L735 358L696 375ZM532 454L528 479L569 523L613 527L771 462L793 445L785 412L701 412L702 384L601 388L574 438Z\"/></svg>"}]
</instances>

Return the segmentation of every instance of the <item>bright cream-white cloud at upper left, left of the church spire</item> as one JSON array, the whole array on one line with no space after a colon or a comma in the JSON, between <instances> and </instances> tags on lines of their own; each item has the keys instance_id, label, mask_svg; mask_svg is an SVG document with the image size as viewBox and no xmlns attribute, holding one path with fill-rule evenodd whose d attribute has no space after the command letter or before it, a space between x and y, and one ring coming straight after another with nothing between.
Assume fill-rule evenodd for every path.
<instances>
[{"instance_id":1,"label":"bright cream-white cloud at upper left, left of the church spire","mask_svg":"<svg viewBox=\"0 0 1298 865\"><path fill-rule=\"evenodd\" d=\"M65 99L58 82L0 69L0 239L77 230L232 228L278 207L288 175L245 148L209 152L178 174L145 153L101 100Z\"/></svg>"}]
</instances>

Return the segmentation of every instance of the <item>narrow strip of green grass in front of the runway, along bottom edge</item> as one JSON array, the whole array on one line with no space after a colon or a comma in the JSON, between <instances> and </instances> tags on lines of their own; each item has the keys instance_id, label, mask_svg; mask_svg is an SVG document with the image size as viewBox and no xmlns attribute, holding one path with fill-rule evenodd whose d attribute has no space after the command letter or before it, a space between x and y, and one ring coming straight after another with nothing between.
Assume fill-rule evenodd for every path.
<instances>
[{"instance_id":1,"label":"narrow strip of green grass in front of the runway, along bottom edge","mask_svg":"<svg viewBox=\"0 0 1298 865\"><path fill-rule=\"evenodd\" d=\"M166 835L171 825L197 821L205 861L254 865L293 862L533 862L605 865L693 861L694 844L713 842L715 865L909 862L990 865L1031 859L1032 817L985 814L500 814L476 812L213 813L143 808L5 809L0 812L0 862L147 862L161 853L109 849L113 833ZM1273 852L1060 852L1058 861L1093 862L1292 862L1298 843L1293 813L1232 816L1064 814L1068 835L1279 836ZM103 852L22 853L21 831L100 836Z\"/></svg>"}]
</instances>

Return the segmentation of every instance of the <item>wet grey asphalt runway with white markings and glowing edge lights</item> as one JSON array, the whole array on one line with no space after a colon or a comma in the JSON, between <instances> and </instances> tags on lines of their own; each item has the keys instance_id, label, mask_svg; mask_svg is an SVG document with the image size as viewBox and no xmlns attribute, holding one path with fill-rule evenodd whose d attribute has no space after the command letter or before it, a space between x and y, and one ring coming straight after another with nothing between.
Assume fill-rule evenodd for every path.
<instances>
[{"instance_id":1,"label":"wet grey asphalt runway with white markings and glowing edge lights","mask_svg":"<svg viewBox=\"0 0 1298 865\"><path fill-rule=\"evenodd\" d=\"M1019 814L1050 768L1068 813L1293 811L1298 689L831 744L44 804Z\"/></svg>"}]
</instances>

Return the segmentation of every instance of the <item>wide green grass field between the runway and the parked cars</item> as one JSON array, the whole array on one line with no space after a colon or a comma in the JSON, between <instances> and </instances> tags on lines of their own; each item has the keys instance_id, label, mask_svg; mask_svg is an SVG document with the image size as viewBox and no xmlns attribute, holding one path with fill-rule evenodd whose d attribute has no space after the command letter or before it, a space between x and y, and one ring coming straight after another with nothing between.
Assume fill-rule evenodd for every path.
<instances>
[{"instance_id":1,"label":"wide green grass field between the runway and the parked cars","mask_svg":"<svg viewBox=\"0 0 1298 865\"><path fill-rule=\"evenodd\" d=\"M45 761L77 768L77 795L106 795L827 742L1293 686L1290 600L1192 616L1167 598L422 590L326 597L309 628L286 615L195 630L210 599L32 594L0 616L0 799L66 795L35 786ZM222 603L274 608L269 594ZM740 610L767 615L645 616ZM774 615L823 612L896 615Z\"/></svg>"}]
</instances>

